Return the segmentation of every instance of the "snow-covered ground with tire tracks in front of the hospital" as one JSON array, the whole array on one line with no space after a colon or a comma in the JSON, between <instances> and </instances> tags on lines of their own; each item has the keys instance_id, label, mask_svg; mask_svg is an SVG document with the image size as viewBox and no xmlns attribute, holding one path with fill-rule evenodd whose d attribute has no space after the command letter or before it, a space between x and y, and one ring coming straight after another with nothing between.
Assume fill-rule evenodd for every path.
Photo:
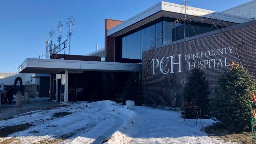
<instances>
[{"instance_id":1,"label":"snow-covered ground with tire tracks in front of the hospital","mask_svg":"<svg viewBox=\"0 0 256 144\"><path fill-rule=\"evenodd\" d=\"M63 117L54 113L69 112ZM211 144L224 143L201 132L201 128L214 123L203 119L195 125L194 119L179 124L178 112L159 108L136 106L135 111L112 105L112 101L70 104L51 110L24 113L12 119L0 121L0 127L32 124L29 129L0 138L0 143L16 138L20 143L36 143L42 140L62 139L58 143L101 144Z\"/></svg>"}]
</instances>

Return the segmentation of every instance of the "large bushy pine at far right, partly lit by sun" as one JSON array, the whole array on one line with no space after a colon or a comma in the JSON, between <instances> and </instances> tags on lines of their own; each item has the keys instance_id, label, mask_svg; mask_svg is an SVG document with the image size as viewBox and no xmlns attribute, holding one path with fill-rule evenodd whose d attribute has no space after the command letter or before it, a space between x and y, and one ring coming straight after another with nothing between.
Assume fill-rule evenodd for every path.
<instances>
[{"instance_id":1,"label":"large bushy pine at far right, partly lit by sun","mask_svg":"<svg viewBox=\"0 0 256 144\"><path fill-rule=\"evenodd\" d=\"M243 66L226 71L217 81L216 98L210 102L213 119L233 131L248 129L251 91L255 92L255 81Z\"/></svg>"}]
</instances>

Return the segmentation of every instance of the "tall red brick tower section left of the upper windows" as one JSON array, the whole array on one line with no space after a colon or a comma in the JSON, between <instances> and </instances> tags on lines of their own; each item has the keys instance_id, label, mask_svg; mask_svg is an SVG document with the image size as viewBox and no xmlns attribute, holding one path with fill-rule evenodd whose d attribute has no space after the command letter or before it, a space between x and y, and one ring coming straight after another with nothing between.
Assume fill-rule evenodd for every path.
<instances>
[{"instance_id":1,"label":"tall red brick tower section left of the upper windows","mask_svg":"<svg viewBox=\"0 0 256 144\"><path fill-rule=\"evenodd\" d=\"M105 19L105 57L108 62L115 62L115 38L107 36L107 30L123 21Z\"/></svg>"}]
</instances>

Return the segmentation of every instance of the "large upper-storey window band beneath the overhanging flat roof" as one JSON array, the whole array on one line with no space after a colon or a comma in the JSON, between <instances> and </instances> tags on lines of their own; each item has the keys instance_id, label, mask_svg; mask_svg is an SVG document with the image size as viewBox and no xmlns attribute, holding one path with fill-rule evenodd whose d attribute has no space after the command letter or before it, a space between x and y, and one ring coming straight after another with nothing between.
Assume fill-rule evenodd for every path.
<instances>
[{"instance_id":1,"label":"large upper-storey window band beneath the overhanging flat roof","mask_svg":"<svg viewBox=\"0 0 256 144\"><path fill-rule=\"evenodd\" d=\"M184 22L173 23L175 19L161 17L147 23L135 30L119 36L117 47L122 47L120 57L123 59L141 59L141 51L151 47L161 47L176 40L184 38ZM199 22L186 22L185 37L195 36L201 33L214 31L212 25ZM121 41L121 42L119 42ZM119 54L118 54L119 55Z\"/></svg>"}]
</instances>

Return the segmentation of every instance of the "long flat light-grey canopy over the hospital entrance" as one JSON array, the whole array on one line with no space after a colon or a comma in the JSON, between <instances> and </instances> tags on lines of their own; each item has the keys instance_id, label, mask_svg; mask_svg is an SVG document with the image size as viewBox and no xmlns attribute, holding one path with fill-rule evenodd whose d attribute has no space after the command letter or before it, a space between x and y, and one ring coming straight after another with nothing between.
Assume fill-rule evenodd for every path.
<instances>
[{"instance_id":1,"label":"long flat light-grey canopy over the hospital entrance","mask_svg":"<svg viewBox=\"0 0 256 144\"><path fill-rule=\"evenodd\" d=\"M19 66L19 73L56 73L64 70L141 72L141 64L104 61L26 58Z\"/></svg>"}]
</instances>

